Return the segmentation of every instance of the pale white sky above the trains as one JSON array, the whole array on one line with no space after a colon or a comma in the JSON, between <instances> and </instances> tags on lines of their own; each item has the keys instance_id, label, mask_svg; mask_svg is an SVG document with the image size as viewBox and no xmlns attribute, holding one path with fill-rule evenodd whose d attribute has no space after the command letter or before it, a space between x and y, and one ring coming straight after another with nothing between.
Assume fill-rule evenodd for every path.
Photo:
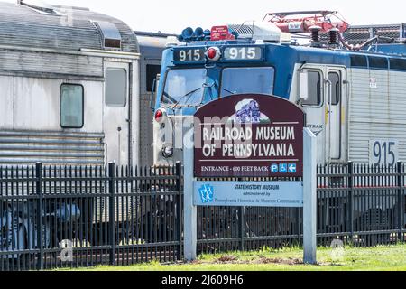
<instances>
[{"instance_id":1,"label":"pale white sky above the trains","mask_svg":"<svg viewBox=\"0 0 406 289\"><path fill-rule=\"evenodd\" d=\"M0 0L16 2L16 0ZM181 33L190 26L262 21L270 12L337 10L350 24L406 23L405 0L47 0L49 4L88 7L123 20L134 30Z\"/></svg>"}]
</instances>

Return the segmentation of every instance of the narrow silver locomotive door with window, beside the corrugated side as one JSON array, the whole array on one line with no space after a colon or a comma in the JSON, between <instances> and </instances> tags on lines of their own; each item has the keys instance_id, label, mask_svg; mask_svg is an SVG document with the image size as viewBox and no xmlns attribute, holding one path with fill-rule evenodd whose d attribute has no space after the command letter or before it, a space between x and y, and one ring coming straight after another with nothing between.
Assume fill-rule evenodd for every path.
<instances>
[{"instance_id":1,"label":"narrow silver locomotive door with window, beside the corrugated side","mask_svg":"<svg viewBox=\"0 0 406 289\"><path fill-rule=\"evenodd\" d=\"M325 70L326 161L345 161L346 138L346 69L328 67Z\"/></svg>"}]
</instances>

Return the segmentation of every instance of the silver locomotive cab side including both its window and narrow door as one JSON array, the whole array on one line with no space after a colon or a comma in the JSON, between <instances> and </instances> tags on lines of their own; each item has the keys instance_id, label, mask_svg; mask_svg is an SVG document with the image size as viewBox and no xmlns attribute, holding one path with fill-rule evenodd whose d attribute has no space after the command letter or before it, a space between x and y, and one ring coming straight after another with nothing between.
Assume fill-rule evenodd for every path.
<instances>
[{"instance_id":1,"label":"silver locomotive cab side including both its window and narrow door","mask_svg":"<svg viewBox=\"0 0 406 289\"><path fill-rule=\"evenodd\" d=\"M318 163L345 162L346 69L307 64L299 83L307 125L318 139Z\"/></svg>"}]
</instances>

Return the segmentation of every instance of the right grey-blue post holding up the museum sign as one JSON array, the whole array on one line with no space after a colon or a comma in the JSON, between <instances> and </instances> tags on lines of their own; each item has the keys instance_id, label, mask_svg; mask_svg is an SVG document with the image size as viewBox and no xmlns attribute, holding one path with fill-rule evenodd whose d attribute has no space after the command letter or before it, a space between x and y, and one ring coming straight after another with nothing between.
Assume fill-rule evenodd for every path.
<instances>
[{"instance_id":1,"label":"right grey-blue post holding up the museum sign","mask_svg":"<svg viewBox=\"0 0 406 289\"><path fill-rule=\"evenodd\" d=\"M316 264L317 257L317 139L303 130L303 262Z\"/></svg>"}]
</instances>

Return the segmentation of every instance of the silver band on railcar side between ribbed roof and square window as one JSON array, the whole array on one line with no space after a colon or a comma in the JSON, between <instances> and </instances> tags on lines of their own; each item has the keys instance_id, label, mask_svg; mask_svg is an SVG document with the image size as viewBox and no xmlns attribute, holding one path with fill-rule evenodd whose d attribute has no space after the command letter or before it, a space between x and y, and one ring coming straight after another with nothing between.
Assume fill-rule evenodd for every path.
<instances>
[{"instance_id":1,"label":"silver band on railcar side between ribbed roof and square window","mask_svg":"<svg viewBox=\"0 0 406 289\"><path fill-rule=\"evenodd\" d=\"M103 59L44 52L0 51L0 70L103 78Z\"/></svg>"}]
</instances>

